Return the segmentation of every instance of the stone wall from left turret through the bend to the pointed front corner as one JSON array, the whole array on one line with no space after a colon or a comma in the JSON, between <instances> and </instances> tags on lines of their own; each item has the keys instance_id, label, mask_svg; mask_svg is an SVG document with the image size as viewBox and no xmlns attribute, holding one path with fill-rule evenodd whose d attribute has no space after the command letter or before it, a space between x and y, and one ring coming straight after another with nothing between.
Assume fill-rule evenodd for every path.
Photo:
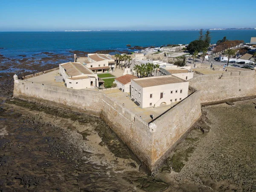
<instances>
[{"instance_id":1,"label":"stone wall from left turret through the bend to the pointed front corner","mask_svg":"<svg viewBox=\"0 0 256 192\"><path fill-rule=\"evenodd\" d=\"M46 84L18 80L15 83L14 97L52 105L65 106L98 113L122 141L148 168L151 168L152 133L148 123L135 116L127 108L101 92L74 90Z\"/></svg>"}]
</instances>

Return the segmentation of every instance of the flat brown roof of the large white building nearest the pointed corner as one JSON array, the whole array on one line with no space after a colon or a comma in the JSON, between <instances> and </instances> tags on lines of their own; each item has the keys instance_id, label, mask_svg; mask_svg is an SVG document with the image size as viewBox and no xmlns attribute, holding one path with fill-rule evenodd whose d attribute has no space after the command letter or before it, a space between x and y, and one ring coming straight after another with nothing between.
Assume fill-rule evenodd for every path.
<instances>
[{"instance_id":1,"label":"flat brown roof of the large white building nearest the pointed corner","mask_svg":"<svg viewBox=\"0 0 256 192\"><path fill-rule=\"evenodd\" d=\"M185 82L182 79L174 76L159 76L159 77L146 77L140 79L133 79L141 87L153 87L163 84L182 83Z\"/></svg>"}]
</instances>

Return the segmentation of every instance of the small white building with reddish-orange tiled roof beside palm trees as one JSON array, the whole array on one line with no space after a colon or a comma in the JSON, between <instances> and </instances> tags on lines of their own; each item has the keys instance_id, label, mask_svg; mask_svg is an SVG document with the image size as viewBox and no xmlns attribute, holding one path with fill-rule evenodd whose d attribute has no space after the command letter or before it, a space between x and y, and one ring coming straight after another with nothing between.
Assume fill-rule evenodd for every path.
<instances>
[{"instance_id":1,"label":"small white building with reddish-orange tiled roof beside palm trees","mask_svg":"<svg viewBox=\"0 0 256 192\"><path fill-rule=\"evenodd\" d=\"M114 83L116 83L117 87L119 88L119 90L122 90L122 92L130 93L131 79L138 79L138 77L126 74L124 76L116 78Z\"/></svg>"}]
</instances>

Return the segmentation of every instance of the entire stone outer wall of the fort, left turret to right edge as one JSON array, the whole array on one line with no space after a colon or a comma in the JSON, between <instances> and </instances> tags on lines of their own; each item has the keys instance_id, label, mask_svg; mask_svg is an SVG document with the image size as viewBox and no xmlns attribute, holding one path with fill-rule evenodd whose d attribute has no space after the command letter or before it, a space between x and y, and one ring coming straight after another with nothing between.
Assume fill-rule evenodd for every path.
<instances>
[{"instance_id":1,"label":"entire stone outer wall of the fort, left turret to right edge","mask_svg":"<svg viewBox=\"0 0 256 192\"><path fill-rule=\"evenodd\" d=\"M209 69L209 65L202 64L198 68ZM227 71L222 73L219 66L215 70L219 73L200 74L189 80L192 86L189 87L189 96L149 123L101 91L73 90L28 81L49 71L16 78L14 97L46 105L54 102L65 108L98 114L134 154L154 171L200 118L201 103L256 97L254 70L226 67Z\"/></svg>"}]
</instances>

